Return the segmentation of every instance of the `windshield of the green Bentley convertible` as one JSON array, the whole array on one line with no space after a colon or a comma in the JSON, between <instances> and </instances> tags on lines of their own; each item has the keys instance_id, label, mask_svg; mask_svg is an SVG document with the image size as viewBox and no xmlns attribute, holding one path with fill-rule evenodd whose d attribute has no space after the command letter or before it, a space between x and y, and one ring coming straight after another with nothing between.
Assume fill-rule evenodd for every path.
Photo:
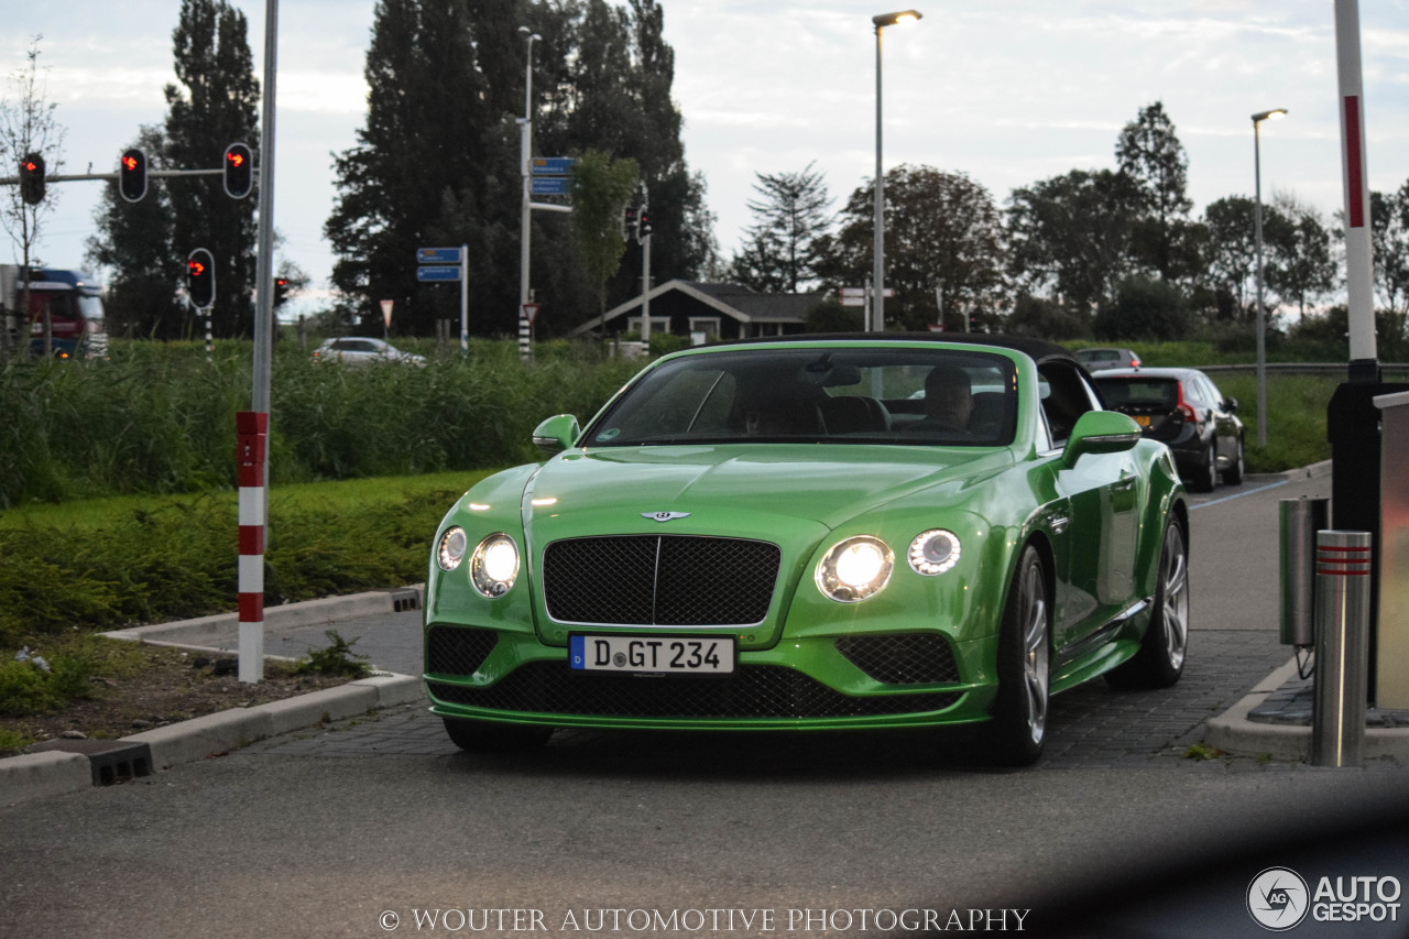
<instances>
[{"instance_id":1,"label":"windshield of the green Bentley convertible","mask_svg":"<svg viewBox=\"0 0 1409 939\"><path fill-rule=\"evenodd\" d=\"M686 355L628 388L589 447L672 443L1013 441L1012 360L960 350L771 348Z\"/></svg>"}]
</instances>

